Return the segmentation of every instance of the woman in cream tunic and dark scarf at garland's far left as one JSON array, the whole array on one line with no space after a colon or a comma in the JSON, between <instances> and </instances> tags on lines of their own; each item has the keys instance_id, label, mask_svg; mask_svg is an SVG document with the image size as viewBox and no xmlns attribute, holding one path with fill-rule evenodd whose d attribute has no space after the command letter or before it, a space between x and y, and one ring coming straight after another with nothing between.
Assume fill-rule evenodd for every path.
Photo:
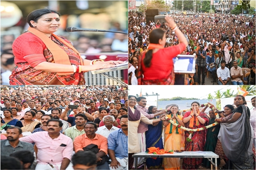
<instances>
[{"instance_id":1,"label":"woman in cream tunic and dark scarf at garland's far left","mask_svg":"<svg viewBox=\"0 0 256 170\"><path fill-rule=\"evenodd\" d=\"M144 122L147 125L152 125L153 123L165 120L165 118L162 117L160 119L148 119L136 109L136 96L129 95L128 101L128 169L131 170L134 163L134 158L132 157L132 155L134 155L134 153L140 153L140 142L138 139L138 126L140 124L140 121Z\"/></svg>"}]
</instances>

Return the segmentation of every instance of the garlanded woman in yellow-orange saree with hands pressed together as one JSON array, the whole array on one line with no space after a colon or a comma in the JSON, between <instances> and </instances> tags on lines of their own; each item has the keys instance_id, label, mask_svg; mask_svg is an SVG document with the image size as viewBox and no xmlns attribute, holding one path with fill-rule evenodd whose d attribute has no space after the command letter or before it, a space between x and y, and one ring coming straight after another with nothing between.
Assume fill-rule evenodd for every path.
<instances>
[{"instance_id":1,"label":"garlanded woman in yellow-orange saree with hands pressed together","mask_svg":"<svg viewBox=\"0 0 256 170\"><path fill-rule=\"evenodd\" d=\"M168 118L175 123L184 126L183 116L178 113L179 107L173 105L170 108ZM184 150L185 139L184 130L178 128L168 121L163 122L164 127L164 150ZM162 133L161 133L162 134ZM165 170L179 170L180 158L163 158L163 167Z\"/></svg>"}]
</instances>

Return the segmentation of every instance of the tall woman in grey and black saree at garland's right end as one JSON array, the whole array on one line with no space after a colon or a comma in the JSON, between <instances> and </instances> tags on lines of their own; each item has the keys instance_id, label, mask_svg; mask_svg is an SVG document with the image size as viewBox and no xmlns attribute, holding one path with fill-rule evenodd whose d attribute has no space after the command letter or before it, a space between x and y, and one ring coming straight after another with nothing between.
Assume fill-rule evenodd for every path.
<instances>
[{"instance_id":1,"label":"tall woman in grey and black saree at garland's right end","mask_svg":"<svg viewBox=\"0 0 256 170\"><path fill-rule=\"evenodd\" d=\"M236 109L230 119L218 118L221 122L218 139L228 158L226 169L253 169L253 128L250 125L250 109L245 106L244 96L234 98Z\"/></svg>"}]
</instances>

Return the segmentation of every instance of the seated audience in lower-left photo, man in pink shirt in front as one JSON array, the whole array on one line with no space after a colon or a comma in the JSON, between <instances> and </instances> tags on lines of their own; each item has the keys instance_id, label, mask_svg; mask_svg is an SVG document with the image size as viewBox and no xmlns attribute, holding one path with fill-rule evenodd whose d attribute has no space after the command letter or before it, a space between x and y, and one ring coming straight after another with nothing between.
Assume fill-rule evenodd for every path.
<instances>
[{"instance_id":1,"label":"seated audience in lower-left photo, man in pink shirt in front","mask_svg":"<svg viewBox=\"0 0 256 170\"><path fill-rule=\"evenodd\" d=\"M127 96L122 85L1 87L1 169L127 169Z\"/></svg>"}]
</instances>

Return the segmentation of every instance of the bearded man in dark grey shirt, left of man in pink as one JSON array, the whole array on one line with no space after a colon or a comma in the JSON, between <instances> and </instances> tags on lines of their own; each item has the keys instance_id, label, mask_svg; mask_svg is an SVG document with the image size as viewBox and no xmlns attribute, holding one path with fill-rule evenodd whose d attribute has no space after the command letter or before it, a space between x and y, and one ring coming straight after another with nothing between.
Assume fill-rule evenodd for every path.
<instances>
[{"instance_id":1,"label":"bearded man in dark grey shirt, left of man in pink","mask_svg":"<svg viewBox=\"0 0 256 170\"><path fill-rule=\"evenodd\" d=\"M19 138L22 137L22 130L20 127L12 126L6 130L7 139L1 140L1 156L9 156L11 153L20 151L20 150L29 150L34 153L34 145L22 142Z\"/></svg>"}]
</instances>

